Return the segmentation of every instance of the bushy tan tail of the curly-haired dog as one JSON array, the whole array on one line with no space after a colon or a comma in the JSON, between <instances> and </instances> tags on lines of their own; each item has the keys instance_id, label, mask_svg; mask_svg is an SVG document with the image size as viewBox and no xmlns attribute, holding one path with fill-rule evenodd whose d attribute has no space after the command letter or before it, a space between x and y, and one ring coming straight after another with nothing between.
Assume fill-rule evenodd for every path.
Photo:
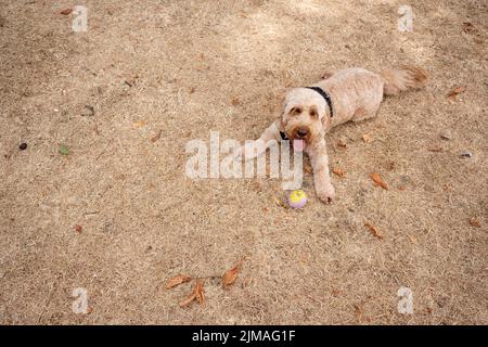
<instances>
[{"instance_id":1,"label":"bushy tan tail of the curly-haired dog","mask_svg":"<svg viewBox=\"0 0 488 347\"><path fill-rule=\"evenodd\" d=\"M387 68L381 73L383 93L385 95L398 95L400 91L419 89L427 83L427 72L416 66L402 66L400 68Z\"/></svg>"}]
</instances>

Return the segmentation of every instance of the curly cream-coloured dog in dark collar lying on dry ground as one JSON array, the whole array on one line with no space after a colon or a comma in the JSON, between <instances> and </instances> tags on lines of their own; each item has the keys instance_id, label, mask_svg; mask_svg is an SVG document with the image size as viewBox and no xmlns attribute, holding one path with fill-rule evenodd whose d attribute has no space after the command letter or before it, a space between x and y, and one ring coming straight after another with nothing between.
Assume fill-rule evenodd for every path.
<instances>
[{"instance_id":1,"label":"curly cream-coloured dog in dark collar lying on dry ground","mask_svg":"<svg viewBox=\"0 0 488 347\"><path fill-rule=\"evenodd\" d=\"M288 91L280 118L257 140L260 145L241 147L236 155L254 158L266 151L271 140L290 139L296 152L305 151L309 155L317 195L330 203L335 192L329 174L325 133L348 120L374 117L383 95L422 88L426 81L427 74L422 68L410 66L385 69L381 74L363 68L328 73L310 87Z\"/></svg>"}]
</instances>

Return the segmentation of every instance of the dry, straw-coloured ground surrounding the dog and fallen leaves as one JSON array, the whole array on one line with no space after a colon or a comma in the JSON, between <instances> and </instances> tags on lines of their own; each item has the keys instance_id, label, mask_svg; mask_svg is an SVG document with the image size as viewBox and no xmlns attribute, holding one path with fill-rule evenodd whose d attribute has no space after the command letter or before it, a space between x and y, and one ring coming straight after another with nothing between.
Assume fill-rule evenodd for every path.
<instances>
[{"instance_id":1,"label":"dry, straw-coloured ground surrounding the dog and fallen leaves","mask_svg":"<svg viewBox=\"0 0 488 347\"><path fill-rule=\"evenodd\" d=\"M488 323L485 1L79 2L0 0L1 323ZM76 4L87 33L60 13ZM287 87L401 64L429 85L329 134L332 205L309 174L303 210L279 179L185 176L189 140L257 138ZM179 307L179 273L205 305Z\"/></svg>"}]
</instances>

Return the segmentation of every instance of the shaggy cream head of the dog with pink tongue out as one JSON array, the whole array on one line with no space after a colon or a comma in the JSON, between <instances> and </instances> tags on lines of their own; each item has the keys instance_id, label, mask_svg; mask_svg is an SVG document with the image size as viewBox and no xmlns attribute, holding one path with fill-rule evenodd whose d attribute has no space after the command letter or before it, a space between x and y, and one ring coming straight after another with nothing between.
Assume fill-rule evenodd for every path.
<instances>
[{"instance_id":1,"label":"shaggy cream head of the dog with pink tongue out","mask_svg":"<svg viewBox=\"0 0 488 347\"><path fill-rule=\"evenodd\" d=\"M326 110L325 100L314 90L295 88L286 94L281 125L292 144L294 140L303 140L298 142L300 143L298 151L323 138L329 126ZM294 146L296 150L296 145Z\"/></svg>"}]
</instances>

